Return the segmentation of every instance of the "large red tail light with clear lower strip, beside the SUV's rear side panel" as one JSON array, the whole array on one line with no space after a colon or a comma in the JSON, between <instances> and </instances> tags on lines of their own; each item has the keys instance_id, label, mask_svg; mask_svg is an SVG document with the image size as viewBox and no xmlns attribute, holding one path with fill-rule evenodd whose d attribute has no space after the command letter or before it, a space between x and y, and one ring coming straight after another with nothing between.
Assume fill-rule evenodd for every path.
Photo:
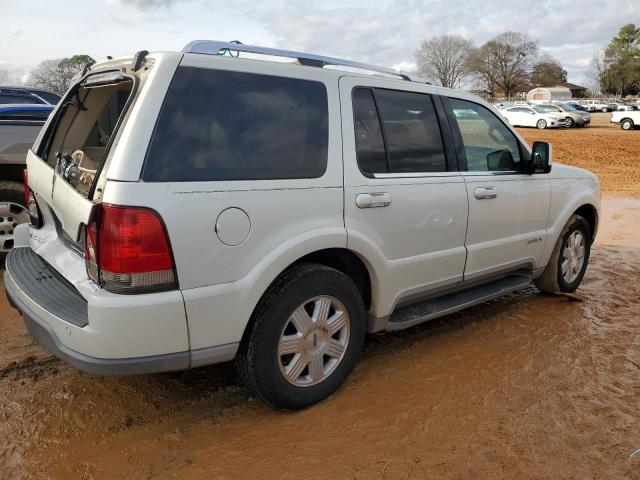
<instances>
[{"instance_id":1,"label":"large red tail light with clear lower strip, beside the SUV's rear side panel","mask_svg":"<svg viewBox=\"0 0 640 480\"><path fill-rule=\"evenodd\" d=\"M114 293L177 288L169 236L157 212L101 204L85 230L88 275Z\"/></svg>"}]
</instances>

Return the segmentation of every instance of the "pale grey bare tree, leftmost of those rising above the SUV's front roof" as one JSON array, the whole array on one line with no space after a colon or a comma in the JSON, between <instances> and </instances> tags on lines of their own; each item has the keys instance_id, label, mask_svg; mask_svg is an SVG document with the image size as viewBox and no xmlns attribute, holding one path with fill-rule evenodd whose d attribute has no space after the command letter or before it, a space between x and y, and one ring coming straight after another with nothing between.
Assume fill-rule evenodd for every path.
<instances>
[{"instance_id":1,"label":"pale grey bare tree, leftmost of those rising above the SUV's front roof","mask_svg":"<svg viewBox=\"0 0 640 480\"><path fill-rule=\"evenodd\" d=\"M418 71L427 80L456 88L469 74L467 58L473 44L459 35L441 35L425 40L416 52Z\"/></svg>"}]
</instances>

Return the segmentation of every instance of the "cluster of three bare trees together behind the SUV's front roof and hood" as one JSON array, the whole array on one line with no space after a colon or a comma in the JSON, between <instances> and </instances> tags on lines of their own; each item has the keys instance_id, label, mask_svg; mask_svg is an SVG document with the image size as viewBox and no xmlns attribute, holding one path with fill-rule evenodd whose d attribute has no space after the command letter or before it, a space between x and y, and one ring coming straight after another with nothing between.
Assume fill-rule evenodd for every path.
<instances>
[{"instance_id":1,"label":"cluster of three bare trees together behind the SUV's front roof and hood","mask_svg":"<svg viewBox=\"0 0 640 480\"><path fill-rule=\"evenodd\" d=\"M504 32L483 45L459 35L425 40L416 52L419 73L443 87L459 88L465 81L490 96L511 96L531 86L556 86L567 71L549 55L538 55L538 44L527 34Z\"/></svg>"}]
</instances>

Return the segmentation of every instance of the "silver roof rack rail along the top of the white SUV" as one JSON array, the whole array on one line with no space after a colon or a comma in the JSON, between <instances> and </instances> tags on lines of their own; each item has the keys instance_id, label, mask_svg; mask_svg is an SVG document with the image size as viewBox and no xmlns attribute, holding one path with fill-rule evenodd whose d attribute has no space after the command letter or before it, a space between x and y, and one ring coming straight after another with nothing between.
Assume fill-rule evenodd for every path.
<instances>
[{"instance_id":1,"label":"silver roof rack rail along the top of the white SUV","mask_svg":"<svg viewBox=\"0 0 640 480\"><path fill-rule=\"evenodd\" d=\"M194 40L189 42L183 49L183 53L201 53L205 55L224 55L229 53L231 56L238 56L239 52L255 53L258 55L270 55L273 57L294 58L300 65L311 67L324 67L327 65L355 68L358 70L366 70L374 73L383 73L385 75L393 75L410 82L428 83L423 79L410 73L394 70L393 68L379 67L377 65L369 65L367 63L354 62L352 60L344 60L335 57L325 57L323 55L315 55L313 53L294 52L291 50L280 50L277 48L258 47L255 45L245 45L238 41L221 42L218 40ZM235 53L235 55L234 55Z\"/></svg>"}]
</instances>

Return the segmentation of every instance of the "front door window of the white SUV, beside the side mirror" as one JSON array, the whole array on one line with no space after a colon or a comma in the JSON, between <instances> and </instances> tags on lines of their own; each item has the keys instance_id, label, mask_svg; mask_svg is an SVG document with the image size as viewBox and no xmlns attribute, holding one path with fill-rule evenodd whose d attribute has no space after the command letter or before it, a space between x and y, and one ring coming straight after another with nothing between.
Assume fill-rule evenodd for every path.
<instances>
[{"instance_id":1,"label":"front door window of the white SUV, beside the side mirror","mask_svg":"<svg viewBox=\"0 0 640 480\"><path fill-rule=\"evenodd\" d=\"M493 112L466 100L450 98L449 101L462 134L470 172L519 169L518 140ZM467 113L469 110L476 116L471 117Z\"/></svg>"}]
</instances>

